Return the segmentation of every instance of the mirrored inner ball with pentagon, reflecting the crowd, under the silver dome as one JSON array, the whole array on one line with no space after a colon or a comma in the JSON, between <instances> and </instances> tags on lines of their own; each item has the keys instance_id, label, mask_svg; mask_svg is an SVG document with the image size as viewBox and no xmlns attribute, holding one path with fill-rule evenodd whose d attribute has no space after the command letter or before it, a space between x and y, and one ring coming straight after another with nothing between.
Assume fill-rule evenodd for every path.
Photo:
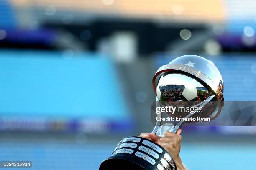
<instances>
[{"instance_id":1,"label":"mirrored inner ball with pentagon, reflecting the crowd, under the silver dome","mask_svg":"<svg viewBox=\"0 0 256 170\"><path fill-rule=\"evenodd\" d=\"M166 72L162 75L159 83L156 87L157 98L163 105L182 105L184 107L192 107L200 104L201 101L206 100L211 95L214 95L213 91L207 90L200 82L183 74ZM178 101L178 102L177 102ZM214 105L213 102L208 102L204 106L202 115L200 112L194 114L192 117L203 116L210 117L214 108L210 105ZM210 107L206 110L207 107ZM170 116L185 117L185 112L174 113Z\"/></svg>"}]
</instances>

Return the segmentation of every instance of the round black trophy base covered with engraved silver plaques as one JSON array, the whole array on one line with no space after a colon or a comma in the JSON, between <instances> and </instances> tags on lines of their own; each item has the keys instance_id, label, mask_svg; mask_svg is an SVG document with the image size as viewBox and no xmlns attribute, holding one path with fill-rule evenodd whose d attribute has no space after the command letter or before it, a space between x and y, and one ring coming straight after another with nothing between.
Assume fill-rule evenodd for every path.
<instances>
[{"instance_id":1,"label":"round black trophy base covered with engraved silver plaques","mask_svg":"<svg viewBox=\"0 0 256 170\"><path fill-rule=\"evenodd\" d=\"M118 143L99 170L176 170L172 156L160 145L142 137L127 137Z\"/></svg>"}]
</instances>

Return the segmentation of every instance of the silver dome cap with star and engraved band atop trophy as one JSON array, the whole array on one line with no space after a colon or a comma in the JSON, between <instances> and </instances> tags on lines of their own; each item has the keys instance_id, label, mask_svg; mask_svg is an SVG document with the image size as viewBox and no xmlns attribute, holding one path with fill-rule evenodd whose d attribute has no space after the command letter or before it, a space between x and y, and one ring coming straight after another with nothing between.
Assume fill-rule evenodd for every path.
<instances>
[{"instance_id":1,"label":"silver dome cap with star and engraved band atop trophy","mask_svg":"<svg viewBox=\"0 0 256 170\"><path fill-rule=\"evenodd\" d=\"M153 77L153 87L166 74L179 73L188 77L195 78L207 90L213 90L220 100L223 98L224 84L218 68L209 60L197 55L184 55L178 57L167 65L160 67ZM160 77L157 79L157 77Z\"/></svg>"}]
</instances>

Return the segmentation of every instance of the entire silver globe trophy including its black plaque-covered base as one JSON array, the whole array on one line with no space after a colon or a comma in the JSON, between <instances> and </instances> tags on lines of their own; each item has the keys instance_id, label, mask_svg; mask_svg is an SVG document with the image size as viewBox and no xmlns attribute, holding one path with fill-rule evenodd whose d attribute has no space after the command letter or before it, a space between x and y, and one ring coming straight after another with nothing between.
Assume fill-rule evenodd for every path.
<instances>
[{"instance_id":1,"label":"entire silver globe trophy including its black plaque-covered base","mask_svg":"<svg viewBox=\"0 0 256 170\"><path fill-rule=\"evenodd\" d=\"M162 101L196 101L194 107L203 107L214 101L214 104L210 105L210 110L200 113L200 116L209 117L210 120L218 117L223 108L221 74L211 61L203 57L196 55L177 57L169 64L161 66L154 75L152 82L157 103ZM186 115L177 114L179 113L172 116L187 118L195 116L191 112ZM158 116L161 117L161 114ZM164 137L166 132L175 135L175 133L180 133L179 128L184 123L185 121L179 121L176 124L163 123L159 119L156 121L152 133L158 139ZM168 148L168 143L161 145L161 143L153 142L150 138L138 136L124 138L118 143L112 155L101 163L100 170L177 170L174 155L165 148Z\"/></svg>"}]
</instances>

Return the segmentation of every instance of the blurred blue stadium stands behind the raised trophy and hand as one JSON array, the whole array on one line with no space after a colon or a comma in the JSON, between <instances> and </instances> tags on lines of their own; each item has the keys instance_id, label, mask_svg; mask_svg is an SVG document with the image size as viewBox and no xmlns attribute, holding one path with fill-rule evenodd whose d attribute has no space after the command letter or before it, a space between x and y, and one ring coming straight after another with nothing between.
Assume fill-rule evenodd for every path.
<instances>
[{"instance_id":1,"label":"blurred blue stadium stands behind the raised trophy and hand","mask_svg":"<svg viewBox=\"0 0 256 170\"><path fill-rule=\"evenodd\" d=\"M253 0L0 0L0 160L97 170L120 139L151 131L151 78L181 55L215 63L225 100L256 100L255 9ZM189 170L256 169L255 127L182 133Z\"/></svg>"}]
</instances>

